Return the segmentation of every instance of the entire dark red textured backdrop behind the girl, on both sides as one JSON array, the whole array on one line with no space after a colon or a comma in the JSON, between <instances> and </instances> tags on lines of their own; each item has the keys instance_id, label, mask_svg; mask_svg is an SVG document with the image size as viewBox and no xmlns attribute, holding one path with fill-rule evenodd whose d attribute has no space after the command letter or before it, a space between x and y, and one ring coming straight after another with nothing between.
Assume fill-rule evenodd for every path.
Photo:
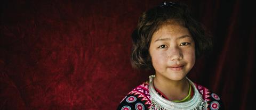
<instances>
[{"instance_id":1,"label":"entire dark red textured backdrop behind the girl, on both sides","mask_svg":"<svg viewBox=\"0 0 256 110\"><path fill-rule=\"evenodd\" d=\"M132 69L131 33L161 1L1 2L0 109L116 109L151 72ZM255 9L236 1L185 1L215 37L189 78L227 109L255 101ZM254 107L255 108L255 107Z\"/></svg>"}]
</instances>

